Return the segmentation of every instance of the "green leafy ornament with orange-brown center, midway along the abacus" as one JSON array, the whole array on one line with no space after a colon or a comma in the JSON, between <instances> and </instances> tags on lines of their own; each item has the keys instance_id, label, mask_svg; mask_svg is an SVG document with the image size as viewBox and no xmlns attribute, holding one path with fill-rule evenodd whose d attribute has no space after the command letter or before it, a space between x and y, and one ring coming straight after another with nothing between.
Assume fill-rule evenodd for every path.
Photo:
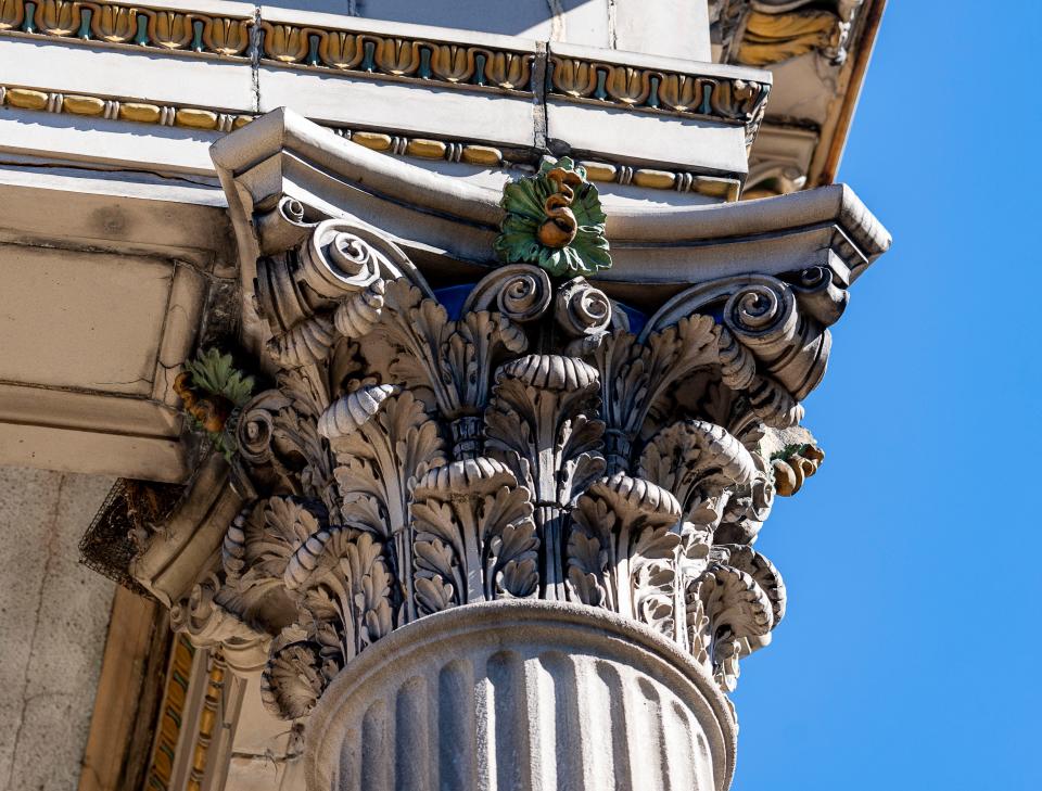
<instances>
[{"instance_id":1,"label":"green leafy ornament with orange-brown center, midway along the abacus","mask_svg":"<svg viewBox=\"0 0 1042 791\"><path fill-rule=\"evenodd\" d=\"M611 266L605 216L586 168L564 156L537 176L512 181L495 250L507 264L538 264L550 275L594 275Z\"/></svg>"}]
</instances>

